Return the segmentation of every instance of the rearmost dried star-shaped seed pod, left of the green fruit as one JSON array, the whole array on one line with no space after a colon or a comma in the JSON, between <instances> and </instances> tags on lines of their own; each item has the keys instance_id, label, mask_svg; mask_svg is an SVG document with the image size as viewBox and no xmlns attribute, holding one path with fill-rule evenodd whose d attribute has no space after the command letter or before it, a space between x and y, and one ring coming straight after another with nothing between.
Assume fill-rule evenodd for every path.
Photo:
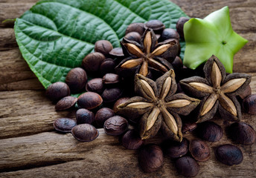
<instances>
[{"instance_id":1,"label":"rearmost dried star-shaped seed pod, left of the green fruit","mask_svg":"<svg viewBox=\"0 0 256 178\"><path fill-rule=\"evenodd\" d=\"M166 40L157 43L156 35L152 29L145 30L141 37L141 44L124 38L121 42L126 59L116 67L121 76L133 76L140 73L143 76L152 76L152 73L166 73L172 69L171 62L178 53L175 40Z\"/></svg>"}]
</instances>

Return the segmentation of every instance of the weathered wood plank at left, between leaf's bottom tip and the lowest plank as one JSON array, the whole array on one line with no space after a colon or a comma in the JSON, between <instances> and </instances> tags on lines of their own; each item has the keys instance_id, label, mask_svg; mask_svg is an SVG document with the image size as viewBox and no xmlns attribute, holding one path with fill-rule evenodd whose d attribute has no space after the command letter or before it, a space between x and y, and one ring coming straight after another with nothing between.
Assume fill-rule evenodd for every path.
<instances>
[{"instance_id":1,"label":"weathered wood plank at left, between leaf's bottom tip and the lowest plank","mask_svg":"<svg viewBox=\"0 0 256 178\"><path fill-rule=\"evenodd\" d=\"M54 131L53 121L75 118L75 111L56 112L44 91L0 92L0 139Z\"/></svg>"}]
</instances>

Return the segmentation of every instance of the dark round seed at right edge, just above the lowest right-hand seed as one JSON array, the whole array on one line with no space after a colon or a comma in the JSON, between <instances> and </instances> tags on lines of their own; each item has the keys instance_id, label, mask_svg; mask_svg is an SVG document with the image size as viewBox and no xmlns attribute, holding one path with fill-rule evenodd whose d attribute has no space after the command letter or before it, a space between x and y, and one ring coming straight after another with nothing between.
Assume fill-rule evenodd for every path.
<instances>
[{"instance_id":1,"label":"dark round seed at right edge, just above the lowest right-hand seed","mask_svg":"<svg viewBox=\"0 0 256 178\"><path fill-rule=\"evenodd\" d=\"M252 145L256 141L256 132L251 125L245 122L235 122L228 128L228 134L234 142L243 145Z\"/></svg>"}]
</instances>

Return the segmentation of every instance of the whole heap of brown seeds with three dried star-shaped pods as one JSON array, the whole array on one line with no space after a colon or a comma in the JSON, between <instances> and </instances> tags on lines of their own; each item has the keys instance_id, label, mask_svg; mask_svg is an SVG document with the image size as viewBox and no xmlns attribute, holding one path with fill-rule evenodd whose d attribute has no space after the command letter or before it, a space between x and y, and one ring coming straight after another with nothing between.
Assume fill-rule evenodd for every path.
<instances>
[{"instance_id":1,"label":"whole heap of brown seeds with three dried star-shaped pods","mask_svg":"<svg viewBox=\"0 0 256 178\"><path fill-rule=\"evenodd\" d=\"M241 111L256 111L256 95L249 87L251 76L226 74L215 56L196 70L185 67L179 57L179 39L184 38L187 21L179 19L177 31L158 20L129 24L122 47L97 41L95 52L85 56L81 67L70 70L65 82L46 90L56 111L78 108L75 119L54 121L56 131L91 142L99 135L97 128L104 128L106 134L119 136L124 148L139 149L143 171L158 171L166 155L175 160L177 171L185 177L198 174L198 162L211 157L207 142L220 141L224 133L237 144L254 144L255 130L240 122ZM94 78L89 80L87 73ZM70 96L74 93L83 94ZM231 122L226 132L207 121L217 111ZM188 121L186 116L194 119ZM129 129L129 125L134 127ZM186 133L199 139L186 139ZM156 134L164 138L161 145L145 144L145 139ZM243 161L242 151L234 145L219 145L214 154L225 165Z\"/></svg>"}]
</instances>

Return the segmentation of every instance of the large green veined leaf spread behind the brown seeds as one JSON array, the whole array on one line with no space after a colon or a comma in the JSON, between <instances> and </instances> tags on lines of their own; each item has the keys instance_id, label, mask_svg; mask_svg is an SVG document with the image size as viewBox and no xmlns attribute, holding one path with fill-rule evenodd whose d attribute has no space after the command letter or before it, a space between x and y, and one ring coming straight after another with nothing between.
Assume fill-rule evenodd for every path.
<instances>
[{"instance_id":1,"label":"large green veined leaf spread behind the brown seeds","mask_svg":"<svg viewBox=\"0 0 256 178\"><path fill-rule=\"evenodd\" d=\"M168 0L44 0L16 19L14 30L22 56L45 88L65 82L71 68L94 51L97 40L120 46L132 22L159 19L176 27L186 16ZM185 43L181 42L182 54Z\"/></svg>"}]
</instances>

